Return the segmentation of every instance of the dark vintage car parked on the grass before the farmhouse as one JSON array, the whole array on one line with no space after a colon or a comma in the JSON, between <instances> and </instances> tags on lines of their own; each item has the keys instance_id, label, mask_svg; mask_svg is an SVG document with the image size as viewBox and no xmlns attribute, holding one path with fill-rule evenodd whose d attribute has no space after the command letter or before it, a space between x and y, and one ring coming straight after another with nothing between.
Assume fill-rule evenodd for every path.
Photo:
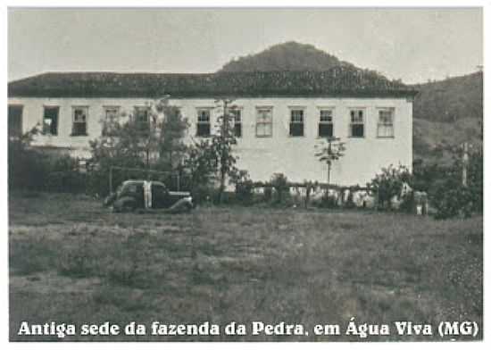
<instances>
[{"instance_id":1,"label":"dark vintage car parked on the grass before the farmhouse","mask_svg":"<svg viewBox=\"0 0 491 350\"><path fill-rule=\"evenodd\" d=\"M188 212L195 206L189 192L174 192L159 181L129 179L116 192L107 196L105 206L115 212L162 209L167 212Z\"/></svg>"}]
</instances>

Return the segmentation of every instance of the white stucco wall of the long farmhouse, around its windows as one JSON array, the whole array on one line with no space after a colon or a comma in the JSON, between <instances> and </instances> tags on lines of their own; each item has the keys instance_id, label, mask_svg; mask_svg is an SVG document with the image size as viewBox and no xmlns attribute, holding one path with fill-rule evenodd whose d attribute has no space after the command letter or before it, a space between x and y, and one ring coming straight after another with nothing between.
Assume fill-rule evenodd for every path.
<instances>
[{"instance_id":1,"label":"white stucco wall of the long farmhouse, around its windows","mask_svg":"<svg viewBox=\"0 0 491 350\"><path fill-rule=\"evenodd\" d=\"M131 112L135 105L151 100L138 98L9 98L9 104L23 105L22 129L28 131L42 124L43 106L60 107L58 136L39 136L36 145L71 148L71 154L88 157L90 139L102 132L104 106L118 105ZM196 108L213 107L214 99L175 99L171 104L181 107L191 126L187 141L196 135ZM254 180L269 180L275 172L284 173L292 181L327 179L327 166L315 157L320 107L334 109L334 134L345 142L345 156L335 162L331 182L339 185L365 185L389 164L412 165L412 102L406 98L247 98L234 101L242 109L242 137L238 139L237 166L249 171ZM88 106L87 137L71 137L72 106ZM256 137L256 107L271 106L272 137ZM290 108L304 108L304 137L289 136ZM395 137L377 137L378 109L395 109ZM365 137L348 137L350 109L365 110ZM212 127L218 111L212 111ZM195 137L196 138L196 137Z\"/></svg>"}]
</instances>

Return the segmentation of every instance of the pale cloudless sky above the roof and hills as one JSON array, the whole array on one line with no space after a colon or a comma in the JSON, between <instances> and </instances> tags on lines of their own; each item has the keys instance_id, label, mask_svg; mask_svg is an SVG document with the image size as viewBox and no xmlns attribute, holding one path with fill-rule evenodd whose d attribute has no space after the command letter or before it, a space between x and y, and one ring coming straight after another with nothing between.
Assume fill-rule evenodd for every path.
<instances>
[{"instance_id":1,"label":"pale cloudless sky above the roof and hills","mask_svg":"<svg viewBox=\"0 0 491 350\"><path fill-rule=\"evenodd\" d=\"M291 40L405 83L483 64L480 8L10 8L8 80L44 71L212 72Z\"/></svg>"}]
</instances>

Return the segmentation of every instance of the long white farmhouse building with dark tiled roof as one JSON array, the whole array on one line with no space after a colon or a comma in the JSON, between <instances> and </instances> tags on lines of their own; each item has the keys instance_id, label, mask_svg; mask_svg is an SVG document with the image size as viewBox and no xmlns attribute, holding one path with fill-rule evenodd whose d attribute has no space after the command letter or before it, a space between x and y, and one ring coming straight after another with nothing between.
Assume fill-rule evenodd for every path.
<instances>
[{"instance_id":1,"label":"long white farmhouse building with dark tiled roof","mask_svg":"<svg viewBox=\"0 0 491 350\"><path fill-rule=\"evenodd\" d=\"M283 173L295 182L327 179L315 156L322 138L340 137L345 156L331 182L364 185L389 164L412 165L415 91L371 71L271 71L211 74L52 72L8 85L9 134L39 125L34 146L89 158L89 140L121 112L148 119L162 96L189 122L187 142L209 137L217 98L237 105L239 169L254 180Z\"/></svg>"}]
</instances>

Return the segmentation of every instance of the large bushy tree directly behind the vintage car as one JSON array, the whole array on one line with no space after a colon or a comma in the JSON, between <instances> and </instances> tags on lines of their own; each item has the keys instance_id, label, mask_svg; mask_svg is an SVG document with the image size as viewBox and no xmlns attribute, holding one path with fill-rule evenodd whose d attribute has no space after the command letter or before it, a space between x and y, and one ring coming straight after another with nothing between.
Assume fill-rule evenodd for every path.
<instances>
[{"instance_id":1,"label":"large bushy tree directly behind the vintage car","mask_svg":"<svg viewBox=\"0 0 491 350\"><path fill-rule=\"evenodd\" d=\"M96 169L92 173L92 190L106 193L112 166L177 171L185 157L182 138L186 129L187 121L177 107L169 104L169 96L104 121L104 134L90 143ZM115 182L128 176L121 172Z\"/></svg>"}]
</instances>

